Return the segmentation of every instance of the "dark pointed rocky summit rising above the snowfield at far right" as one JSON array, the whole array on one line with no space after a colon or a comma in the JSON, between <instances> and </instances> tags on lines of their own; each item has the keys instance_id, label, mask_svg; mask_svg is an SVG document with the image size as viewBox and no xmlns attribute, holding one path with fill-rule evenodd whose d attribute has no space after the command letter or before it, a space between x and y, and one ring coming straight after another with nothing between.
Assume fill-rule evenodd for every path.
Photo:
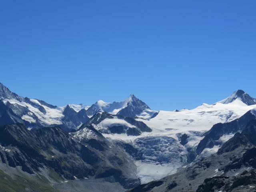
<instances>
[{"instance_id":1,"label":"dark pointed rocky summit rising above the snowfield at far right","mask_svg":"<svg viewBox=\"0 0 256 192\"><path fill-rule=\"evenodd\" d=\"M243 90L236 90L228 98L221 100L218 103L228 104L228 103L234 102L237 99L241 100L246 105L255 105L256 104L256 99L252 98L250 95L245 93Z\"/></svg>"}]
</instances>

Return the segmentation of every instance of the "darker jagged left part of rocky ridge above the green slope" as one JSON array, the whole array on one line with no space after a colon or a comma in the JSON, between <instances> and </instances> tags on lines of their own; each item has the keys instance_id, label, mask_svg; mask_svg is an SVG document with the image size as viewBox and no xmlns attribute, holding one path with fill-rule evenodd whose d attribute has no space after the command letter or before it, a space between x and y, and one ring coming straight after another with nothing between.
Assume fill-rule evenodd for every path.
<instances>
[{"instance_id":1,"label":"darker jagged left part of rocky ridge above the green slope","mask_svg":"<svg viewBox=\"0 0 256 192\"><path fill-rule=\"evenodd\" d=\"M13 124L3 126L0 130L1 145L10 148L10 152L4 154L9 166L22 166L22 170L32 173L45 165L67 179L93 174L92 168L80 158L82 146L60 128L30 132L21 124ZM88 153L87 156L92 154Z\"/></svg>"}]
</instances>

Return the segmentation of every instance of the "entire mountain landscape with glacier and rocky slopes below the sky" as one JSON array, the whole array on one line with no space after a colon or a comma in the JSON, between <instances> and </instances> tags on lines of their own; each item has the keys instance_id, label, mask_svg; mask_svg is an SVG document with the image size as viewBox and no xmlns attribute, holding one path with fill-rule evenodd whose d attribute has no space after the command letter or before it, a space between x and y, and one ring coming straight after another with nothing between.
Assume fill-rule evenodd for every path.
<instances>
[{"instance_id":1,"label":"entire mountain landscape with glacier and rocky slopes below the sky","mask_svg":"<svg viewBox=\"0 0 256 192\"><path fill-rule=\"evenodd\" d=\"M256 99L54 106L0 84L1 192L254 192Z\"/></svg>"}]
</instances>

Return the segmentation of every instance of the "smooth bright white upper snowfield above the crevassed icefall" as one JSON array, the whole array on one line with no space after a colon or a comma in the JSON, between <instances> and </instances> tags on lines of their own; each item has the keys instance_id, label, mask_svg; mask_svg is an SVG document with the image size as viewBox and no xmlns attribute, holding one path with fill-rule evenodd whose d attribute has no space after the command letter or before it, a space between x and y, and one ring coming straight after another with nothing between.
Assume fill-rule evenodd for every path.
<instances>
[{"instance_id":1,"label":"smooth bright white upper snowfield above the crevassed icefall","mask_svg":"<svg viewBox=\"0 0 256 192\"><path fill-rule=\"evenodd\" d=\"M154 130L155 134L165 135L186 131L205 131L216 123L230 122L239 118L256 105L248 106L239 98L229 104L202 104L192 110L179 112L159 111L150 120L138 119Z\"/></svg>"}]
</instances>

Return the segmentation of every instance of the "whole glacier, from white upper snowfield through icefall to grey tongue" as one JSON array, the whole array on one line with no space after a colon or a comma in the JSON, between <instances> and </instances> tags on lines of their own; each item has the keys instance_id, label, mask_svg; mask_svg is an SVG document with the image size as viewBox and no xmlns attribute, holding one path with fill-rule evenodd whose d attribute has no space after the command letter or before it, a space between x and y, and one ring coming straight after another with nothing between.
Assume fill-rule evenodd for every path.
<instances>
[{"instance_id":1,"label":"whole glacier, from white upper snowfield through icefall to grey tongue","mask_svg":"<svg viewBox=\"0 0 256 192\"><path fill-rule=\"evenodd\" d=\"M130 142L139 150L144 148L144 153L148 156L142 158L140 161L136 161L136 166L137 176L141 179L142 183L146 183L169 174L174 174L178 168L186 164L185 155L188 153L187 148L196 147L203 138L202 134L210 130L214 124L230 122L253 108L256 108L256 105L248 106L237 98L228 104L218 102L209 105L204 103L192 110L186 109L178 112L159 111L158 115L150 120L145 120L144 118L136 119L149 126L152 132L143 132L140 136L127 136L126 134L104 134L104 136ZM114 121L114 119L112 120ZM179 142L178 135L184 133L190 137L188 138L187 144L182 146ZM222 136L220 139L226 141L232 138L232 136L234 134ZM145 144L143 147L138 144L138 140L143 141L152 138L153 141L156 137L170 137L175 142L170 145L167 152L167 149L163 150L163 146L161 147L161 144L163 145L161 142L156 145L149 142L148 146ZM154 149L152 149L152 146ZM219 147L214 146L211 149L204 149L200 157L216 153ZM171 156L168 156L167 162L161 162L158 159L154 160L156 156L161 156L160 154L169 154Z\"/></svg>"}]
</instances>

